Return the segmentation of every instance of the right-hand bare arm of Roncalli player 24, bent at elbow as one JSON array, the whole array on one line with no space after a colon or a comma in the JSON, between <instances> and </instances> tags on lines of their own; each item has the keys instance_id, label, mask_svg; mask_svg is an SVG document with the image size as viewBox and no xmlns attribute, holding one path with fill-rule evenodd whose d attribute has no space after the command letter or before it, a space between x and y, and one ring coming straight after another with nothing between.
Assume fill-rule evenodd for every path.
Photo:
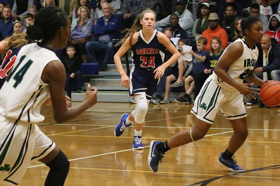
<instances>
[{"instance_id":1,"label":"right-hand bare arm of Roncalli player 24, bent at elbow","mask_svg":"<svg viewBox=\"0 0 280 186\"><path fill-rule=\"evenodd\" d=\"M176 47L170 42L170 40L166 37L165 34L161 33L161 32L157 32L157 38L158 41L163 44L167 50L169 50L171 52L171 54L173 54L169 60L167 60L165 63L163 63L161 66L159 66L158 68L156 68L156 70L154 71L155 74L155 79L157 78L161 78L165 69L170 66L171 64L173 64L176 60L179 59L180 57L180 52L176 49Z\"/></svg>"}]
</instances>

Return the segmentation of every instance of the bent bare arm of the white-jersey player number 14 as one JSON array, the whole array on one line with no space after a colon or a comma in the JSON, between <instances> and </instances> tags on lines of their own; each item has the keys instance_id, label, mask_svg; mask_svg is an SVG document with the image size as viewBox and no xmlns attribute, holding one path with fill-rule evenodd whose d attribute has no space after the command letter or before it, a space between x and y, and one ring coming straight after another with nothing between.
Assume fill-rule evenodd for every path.
<instances>
[{"instance_id":1,"label":"bent bare arm of the white-jersey player number 14","mask_svg":"<svg viewBox=\"0 0 280 186\"><path fill-rule=\"evenodd\" d=\"M71 120L96 104L97 89L94 88L94 91L90 91L90 85L88 85L85 100L75 107L67 108L64 93L66 73L63 64L58 60L51 61L45 66L41 79L44 83L49 84L54 119L58 123Z\"/></svg>"}]
</instances>

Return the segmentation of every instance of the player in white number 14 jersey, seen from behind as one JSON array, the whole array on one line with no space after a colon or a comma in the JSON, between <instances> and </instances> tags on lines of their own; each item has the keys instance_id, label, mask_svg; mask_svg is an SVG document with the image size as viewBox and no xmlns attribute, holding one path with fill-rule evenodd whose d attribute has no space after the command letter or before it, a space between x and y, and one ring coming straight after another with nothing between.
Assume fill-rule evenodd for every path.
<instances>
[{"instance_id":1,"label":"player in white number 14 jersey, seen from behind","mask_svg":"<svg viewBox=\"0 0 280 186\"><path fill-rule=\"evenodd\" d=\"M65 47L69 34L70 21L58 7L42 8L27 28L29 39L42 41L21 48L0 91L0 185L19 184L35 160L50 168L45 186L64 184L70 163L35 123L44 120L40 107L49 97L58 123L96 104L97 90L88 86L84 102L67 108L65 69L54 50Z\"/></svg>"}]
</instances>

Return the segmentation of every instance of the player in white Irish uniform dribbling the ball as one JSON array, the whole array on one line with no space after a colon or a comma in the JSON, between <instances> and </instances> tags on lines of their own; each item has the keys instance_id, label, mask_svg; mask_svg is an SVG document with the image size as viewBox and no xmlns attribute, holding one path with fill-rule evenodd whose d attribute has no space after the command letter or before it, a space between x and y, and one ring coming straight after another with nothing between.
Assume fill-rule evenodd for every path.
<instances>
[{"instance_id":1,"label":"player in white Irish uniform dribbling the ball","mask_svg":"<svg viewBox=\"0 0 280 186\"><path fill-rule=\"evenodd\" d=\"M165 142L151 142L148 166L154 172L158 170L158 164L166 151L202 139L219 109L231 123L234 134L225 152L218 158L218 162L232 172L244 171L232 156L248 135L243 95L249 100L254 98L253 94L259 89L250 88L250 85L264 84L264 81L254 74L254 64L259 53L255 44L263 37L263 25L257 17L249 16L242 19L241 28L245 39L238 39L226 48L215 66L214 73L205 81L195 99L194 108L191 110L196 116L194 127L179 132ZM243 83L244 79L251 83Z\"/></svg>"}]
</instances>

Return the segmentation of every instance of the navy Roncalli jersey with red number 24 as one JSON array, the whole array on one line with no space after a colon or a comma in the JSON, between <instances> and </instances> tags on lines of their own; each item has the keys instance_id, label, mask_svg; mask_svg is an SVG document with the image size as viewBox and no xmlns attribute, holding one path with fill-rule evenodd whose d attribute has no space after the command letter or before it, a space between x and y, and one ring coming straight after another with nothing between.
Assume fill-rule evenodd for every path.
<instances>
[{"instance_id":1,"label":"navy Roncalli jersey with red number 24","mask_svg":"<svg viewBox=\"0 0 280 186\"><path fill-rule=\"evenodd\" d=\"M164 51L157 39L157 30L149 41L146 41L142 30L139 32L138 41L132 46L132 63L136 67L143 69L156 69L164 61Z\"/></svg>"}]
</instances>

